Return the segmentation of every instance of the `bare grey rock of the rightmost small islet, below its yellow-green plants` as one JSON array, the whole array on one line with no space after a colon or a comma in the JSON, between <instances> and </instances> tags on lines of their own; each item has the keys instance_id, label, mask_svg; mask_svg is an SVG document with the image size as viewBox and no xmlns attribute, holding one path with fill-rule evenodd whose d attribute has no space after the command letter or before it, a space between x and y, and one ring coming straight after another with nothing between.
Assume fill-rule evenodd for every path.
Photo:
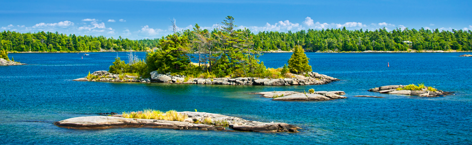
<instances>
[{"instance_id":1,"label":"bare grey rock of the rightmost small islet, below its yellow-green plants","mask_svg":"<svg viewBox=\"0 0 472 145\"><path fill-rule=\"evenodd\" d=\"M427 88L421 90L397 90L397 88L403 88L405 85L385 85L381 87L371 88L369 91L380 92L380 93L389 93L389 94L406 94L406 95L416 95L416 96L427 96L427 97L437 97L452 94L452 92L437 90L430 91Z\"/></svg>"}]
</instances>

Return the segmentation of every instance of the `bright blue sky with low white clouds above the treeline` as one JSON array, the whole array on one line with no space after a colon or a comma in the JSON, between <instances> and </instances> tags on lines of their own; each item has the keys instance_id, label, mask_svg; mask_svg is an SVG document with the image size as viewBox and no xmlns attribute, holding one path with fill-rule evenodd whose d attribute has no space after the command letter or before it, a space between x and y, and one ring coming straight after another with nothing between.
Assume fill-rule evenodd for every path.
<instances>
[{"instance_id":1,"label":"bright blue sky with low white clouds above the treeline","mask_svg":"<svg viewBox=\"0 0 472 145\"><path fill-rule=\"evenodd\" d=\"M0 30L159 38L227 15L258 31L342 28L472 29L472 0L2 0Z\"/></svg>"}]
</instances>

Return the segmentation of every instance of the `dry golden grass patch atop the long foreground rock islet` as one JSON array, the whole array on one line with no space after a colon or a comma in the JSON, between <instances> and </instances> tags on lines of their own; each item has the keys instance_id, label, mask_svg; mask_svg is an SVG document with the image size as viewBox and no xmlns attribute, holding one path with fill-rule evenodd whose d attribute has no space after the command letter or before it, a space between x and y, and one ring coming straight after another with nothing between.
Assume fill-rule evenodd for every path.
<instances>
[{"instance_id":1,"label":"dry golden grass patch atop the long foreground rock islet","mask_svg":"<svg viewBox=\"0 0 472 145\"><path fill-rule=\"evenodd\" d=\"M159 119L159 120L171 120L171 121L184 121L188 118L187 114L177 113L175 110L166 111L165 113L160 110L144 109L143 111L132 111L123 112L125 118L141 118L141 119Z\"/></svg>"}]
</instances>

